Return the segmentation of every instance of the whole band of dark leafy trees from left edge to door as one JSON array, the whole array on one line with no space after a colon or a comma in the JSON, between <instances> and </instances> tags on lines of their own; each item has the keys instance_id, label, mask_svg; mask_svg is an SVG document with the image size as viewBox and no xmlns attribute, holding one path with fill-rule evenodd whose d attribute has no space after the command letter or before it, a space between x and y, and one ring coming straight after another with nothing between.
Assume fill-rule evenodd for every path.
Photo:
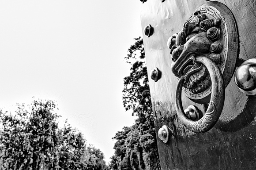
<instances>
[{"instance_id":1,"label":"whole band of dark leafy trees from left edge to door","mask_svg":"<svg viewBox=\"0 0 256 170\"><path fill-rule=\"evenodd\" d=\"M78 130L67 122L58 127L53 101L38 100L29 109L18 105L14 115L0 110L0 170L161 170L141 37L125 60L132 67L124 78L123 104L138 118L113 137L109 166Z\"/></svg>"}]
</instances>

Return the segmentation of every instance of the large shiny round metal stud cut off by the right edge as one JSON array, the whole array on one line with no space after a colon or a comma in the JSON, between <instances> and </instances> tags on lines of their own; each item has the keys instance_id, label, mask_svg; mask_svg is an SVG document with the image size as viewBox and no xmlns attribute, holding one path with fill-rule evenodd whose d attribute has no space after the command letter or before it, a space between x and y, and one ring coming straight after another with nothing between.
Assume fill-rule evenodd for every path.
<instances>
[{"instance_id":1,"label":"large shiny round metal stud cut off by the right edge","mask_svg":"<svg viewBox=\"0 0 256 170\"><path fill-rule=\"evenodd\" d=\"M247 95L256 95L256 58L246 60L235 72L234 80Z\"/></svg>"}]
</instances>

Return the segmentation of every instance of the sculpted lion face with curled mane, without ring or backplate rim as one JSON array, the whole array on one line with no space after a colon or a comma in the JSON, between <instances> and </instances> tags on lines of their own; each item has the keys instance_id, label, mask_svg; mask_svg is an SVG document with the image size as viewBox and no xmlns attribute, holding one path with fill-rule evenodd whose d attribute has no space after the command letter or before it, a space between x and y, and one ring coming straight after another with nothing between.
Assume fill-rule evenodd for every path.
<instances>
[{"instance_id":1,"label":"sculpted lion face with curled mane, without ring or backplate rim","mask_svg":"<svg viewBox=\"0 0 256 170\"><path fill-rule=\"evenodd\" d=\"M173 63L171 70L177 77L185 79L184 88L198 94L211 86L211 78L206 67L196 62L197 56L205 56L220 63L221 18L207 17L197 11L190 22L185 22L183 29L168 40Z\"/></svg>"}]
</instances>

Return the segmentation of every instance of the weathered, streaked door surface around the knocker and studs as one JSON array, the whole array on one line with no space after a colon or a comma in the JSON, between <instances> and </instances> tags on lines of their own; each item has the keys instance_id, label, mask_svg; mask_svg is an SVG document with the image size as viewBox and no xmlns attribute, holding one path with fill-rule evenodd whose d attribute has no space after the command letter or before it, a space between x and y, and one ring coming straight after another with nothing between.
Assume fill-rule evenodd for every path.
<instances>
[{"instance_id":1,"label":"weathered, streaked door surface around the knocker and studs","mask_svg":"<svg viewBox=\"0 0 256 170\"><path fill-rule=\"evenodd\" d=\"M237 22L237 69L244 61L256 57L256 1L218 1L230 9ZM148 23L154 27L152 36L143 36L148 75L155 67L162 72L162 78L157 82L149 80L156 132L163 125L173 130L167 143L158 139L160 163L163 170L254 170L256 97L247 96L239 90L232 71L229 73L230 82L225 88L221 116L211 130L203 134L193 133L177 117L174 99L178 78L171 72L173 61L166 43L170 36L182 29L189 16L205 3L203 0L150 0L142 5L142 29ZM208 104L193 102L184 94L181 101L183 109L195 105L202 115L208 108Z\"/></svg>"}]
</instances>

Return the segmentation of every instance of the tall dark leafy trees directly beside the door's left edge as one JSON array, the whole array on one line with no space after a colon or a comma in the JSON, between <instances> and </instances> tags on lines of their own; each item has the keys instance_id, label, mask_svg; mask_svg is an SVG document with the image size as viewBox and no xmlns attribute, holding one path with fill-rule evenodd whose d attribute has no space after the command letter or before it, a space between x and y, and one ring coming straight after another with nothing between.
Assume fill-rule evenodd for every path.
<instances>
[{"instance_id":1,"label":"tall dark leafy trees directly beside the door's left edge","mask_svg":"<svg viewBox=\"0 0 256 170\"><path fill-rule=\"evenodd\" d=\"M143 39L135 39L125 57L131 64L130 75L124 78L123 104L138 116L132 127L124 127L113 139L115 154L111 157L113 170L160 170L154 116L151 106Z\"/></svg>"}]
</instances>

